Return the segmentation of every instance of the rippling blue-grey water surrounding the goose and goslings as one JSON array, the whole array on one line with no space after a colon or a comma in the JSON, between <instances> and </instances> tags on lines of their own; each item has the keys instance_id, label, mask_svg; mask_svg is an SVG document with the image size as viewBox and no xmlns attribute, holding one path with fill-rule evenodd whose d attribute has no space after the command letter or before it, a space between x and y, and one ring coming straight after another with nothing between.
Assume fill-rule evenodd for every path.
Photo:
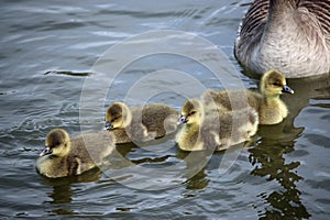
<instances>
[{"instance_id":1,"label":"rippling blue-grey water surrounding the goose and goslings","mask_svg":"<svg viewBox=\"0 0 330 220\"><path fill-rule=\"evenodd\" d=\"M34 169L50 130L64 128L76 135L81 130L100 129L105 106L124 99L129 89L151 72L172 68L187 73L205 87L223 87L208 69L187 57L156 54L122 69L113 86L102 91L106 98L95 100L102 108L87 106L91 108L90 114L79 118L84 85L97 76L91 69L94 64L113 44L148 31L194 33L218 45L241 70L232 56L232 46L246 3L101 0L68 6L66 1L2 1L0 216L328 219L328 76L289 80L296 91L283 97L289 117L278 125L261 127L250 147L217 153L209 161L204 156L188 161L189 155L177 151L168 139L153 146L119 148L108 173L113 176L91 170L78 177L46 179ZM155 43L156 40L151 41L152 46ZM196 53L195 46L198 48L191 45L189 53ZM118 57L129 56L124 53ZM195 91L190 81L179 79L176 86ZM223 77L220 82L227 79ZM245 87L255 87L255 79L242 74L240 79ZM168 82L166 78L165 82L162 80L152 86ZM94 92L101 90L98 88ZM169 92L150 101L164 101L179 109L184 98ZM128 161L123 162L121 155ZM230 155L238 158L229 170L221 173L221 161ZM128 162L136 164L132 170ZM200 170L194 169L196 164ZM166 167L175 165L182 175L166 173Z\"/></svg>"}]
</instances>

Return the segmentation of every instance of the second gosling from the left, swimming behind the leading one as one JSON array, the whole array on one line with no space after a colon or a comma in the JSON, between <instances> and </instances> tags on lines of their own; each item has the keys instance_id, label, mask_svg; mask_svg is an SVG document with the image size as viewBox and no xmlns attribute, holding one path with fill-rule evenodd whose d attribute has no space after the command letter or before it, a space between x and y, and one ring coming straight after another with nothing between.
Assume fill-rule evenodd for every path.
<instances>
[{"instance_id":1,"label":"second gosling from the left, swimming behind the leading one","mask_svg":"<svg viewBox=\"0 0 330 220\"><path fill-rule=\"evenodd\" d=\"M178 112L163 103L129 108L113 102L106 112L106 129L114 134L116 143L142 143L160 139L177 130Z\"/></svg>"}]
</instances>

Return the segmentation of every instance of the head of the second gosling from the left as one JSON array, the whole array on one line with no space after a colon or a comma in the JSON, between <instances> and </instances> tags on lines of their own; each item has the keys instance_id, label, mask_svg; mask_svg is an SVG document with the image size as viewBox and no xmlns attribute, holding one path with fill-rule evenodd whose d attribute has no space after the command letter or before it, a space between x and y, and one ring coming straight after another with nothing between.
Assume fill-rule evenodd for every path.
<instances>
[{"instance_id":1,"label":"head of the second gosling from the left","mask_svg":"<svg viewBox=\"0 0 330 220\"><path fill-rule=\"evenodd\" d=\"M106 112L106 129L124 129L131 121L130 109L123 102L113 102Z\"/></svg>"}]
</instances>

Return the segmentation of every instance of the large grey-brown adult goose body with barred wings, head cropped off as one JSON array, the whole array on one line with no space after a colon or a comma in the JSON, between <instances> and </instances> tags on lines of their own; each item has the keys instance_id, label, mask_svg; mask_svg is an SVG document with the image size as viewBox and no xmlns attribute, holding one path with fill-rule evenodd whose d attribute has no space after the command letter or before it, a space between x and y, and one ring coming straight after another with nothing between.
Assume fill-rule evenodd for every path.
<instances>
[{"instance_id":1,"label":"large grey-brown adult goose body with barred wings, head cropped off","mask_svg":"<svg viewBox=\"0 0 330 220\"><path fill-rule=\"evenodd\" d=\"M242 20L234 54L257 74L330 73L330 0L255 0Z\"/></svg>"}]
</instances>

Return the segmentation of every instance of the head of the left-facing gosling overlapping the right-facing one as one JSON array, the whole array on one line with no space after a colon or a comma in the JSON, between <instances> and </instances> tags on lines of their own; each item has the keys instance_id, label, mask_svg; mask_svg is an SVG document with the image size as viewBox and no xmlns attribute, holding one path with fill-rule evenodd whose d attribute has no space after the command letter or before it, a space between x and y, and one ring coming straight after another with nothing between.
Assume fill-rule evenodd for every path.
<instances>
[{"instance_id":1,"label":"head of the left-facing gosling overlapping the right-facing one","mask_svg":"<svg viewBox=\"0 0 330 220\"><path fill-rule=\"evenodd\" d=\"M202 114L201 102L197 99L187 100L182 109L182 116L178 119L178 124L199 123Z\"/></svg>"}]
</instances>

